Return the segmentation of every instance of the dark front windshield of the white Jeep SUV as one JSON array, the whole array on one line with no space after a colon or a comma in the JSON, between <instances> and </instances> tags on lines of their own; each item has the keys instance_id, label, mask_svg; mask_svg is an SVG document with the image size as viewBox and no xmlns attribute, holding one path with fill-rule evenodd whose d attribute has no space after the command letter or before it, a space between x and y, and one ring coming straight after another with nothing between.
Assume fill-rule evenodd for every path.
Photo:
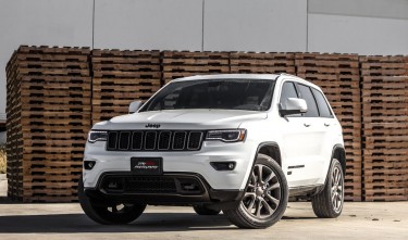
<instances>
[{"instance_id":1,"label":"dark front windshield of the white Jeep SUV","mask_svg":"<svg viewBox=\"0 0 408 240\"><path fill-rule=\"evenodd\" d=\"M174 81L139 112L180 109L265 111L271 105L274 83L263 79Z\"/></svg>"}]
</instances>

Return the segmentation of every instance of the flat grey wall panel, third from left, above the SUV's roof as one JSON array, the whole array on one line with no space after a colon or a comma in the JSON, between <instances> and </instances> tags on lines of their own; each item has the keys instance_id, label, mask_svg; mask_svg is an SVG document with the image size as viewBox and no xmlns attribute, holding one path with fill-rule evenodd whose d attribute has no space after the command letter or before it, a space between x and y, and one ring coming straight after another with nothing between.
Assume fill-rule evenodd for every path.
<instances>
[{"instance_id":1,"label":"flat grey wall panel, third from left, above the SUV's roof","mask_svg":"<svg viewBox=\"0 0 408 240\"><path fill-rule=\"evenodd\" d=\"M206 51L306 51L307 1L206 0Z\"/></svg>"}]
</instances>

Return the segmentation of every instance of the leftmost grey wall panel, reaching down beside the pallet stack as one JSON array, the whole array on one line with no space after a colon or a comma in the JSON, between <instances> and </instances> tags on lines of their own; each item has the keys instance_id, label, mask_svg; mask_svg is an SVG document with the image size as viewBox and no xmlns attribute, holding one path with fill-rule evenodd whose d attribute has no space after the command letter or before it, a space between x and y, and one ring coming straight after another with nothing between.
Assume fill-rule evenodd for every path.
<instances>
[{"instance_id":1,"label":"leftmost grey wall panel, reaching down beside the pallet stack","mask_svg":"<svg viewBox=\"0 0 408 240\"><path fill-rule=\"evenodd\" d=\"M20 45L92 45L92 0L1 0L0 113L5 112L5 65Z\"/></svg>"}]
</instances>

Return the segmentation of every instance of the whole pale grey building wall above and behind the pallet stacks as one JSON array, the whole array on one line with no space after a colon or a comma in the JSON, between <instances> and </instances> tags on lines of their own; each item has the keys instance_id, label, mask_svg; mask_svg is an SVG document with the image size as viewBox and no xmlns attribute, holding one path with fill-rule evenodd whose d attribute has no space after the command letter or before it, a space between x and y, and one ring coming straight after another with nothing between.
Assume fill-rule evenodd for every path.
<instances>
[{"instance_id":1,"label":"whole pale grey building wall above and behind the pallet stacks","mask_svg":"<svg viewBox=\"0 0 408 240\"><path fill-rule=\"evenodd\" d=\"M408 54L408 0L0 0L0 113L20 45Z\"/></svg>"}]
</instances>

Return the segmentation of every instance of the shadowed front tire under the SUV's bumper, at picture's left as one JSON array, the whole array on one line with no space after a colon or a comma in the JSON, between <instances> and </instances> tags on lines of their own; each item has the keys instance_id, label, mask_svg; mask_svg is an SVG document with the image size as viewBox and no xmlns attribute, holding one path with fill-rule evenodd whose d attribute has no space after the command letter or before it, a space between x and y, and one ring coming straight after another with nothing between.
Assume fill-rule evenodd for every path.
<instances>
[{"instance_id":1,"label":"shadowed front tire under the SUV's bumper, at picture's left","mask_svg":"<svg viewBox=\"0 0 408 240\"><path fill-rule=\"evenodd\" d=\"M84 181L78 181L78 199L85 214L98 224L120 225L128 224L138 218L146 209L146 204L106 203L91 199L84 192Z\"/></svg>"}]
</instances>

